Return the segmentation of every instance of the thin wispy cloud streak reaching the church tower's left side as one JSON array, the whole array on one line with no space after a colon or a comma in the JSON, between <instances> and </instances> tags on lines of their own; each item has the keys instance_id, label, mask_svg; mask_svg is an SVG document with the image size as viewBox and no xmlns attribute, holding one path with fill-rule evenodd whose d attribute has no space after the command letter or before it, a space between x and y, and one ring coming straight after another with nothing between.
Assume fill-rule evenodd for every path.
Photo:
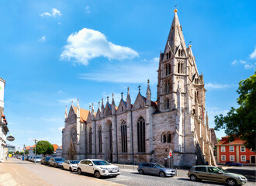
<instances>
[{"instance_id":1,"label":"thin wispy cloud streak reaching the church tower's left side","mask_svg":"<svg viewBox=\"0 0 256 186\"><path fill-rule=\"evenodd\" d=\"M126 64L106 65L101 71L81 74L80 79L92 81L106 81L114 83L147 83L149 79L157 83L157 67L159 58L143 61L142 63L130 62ZM109 73L111 71L111 73Z\"/></svg>"}]
</instances>

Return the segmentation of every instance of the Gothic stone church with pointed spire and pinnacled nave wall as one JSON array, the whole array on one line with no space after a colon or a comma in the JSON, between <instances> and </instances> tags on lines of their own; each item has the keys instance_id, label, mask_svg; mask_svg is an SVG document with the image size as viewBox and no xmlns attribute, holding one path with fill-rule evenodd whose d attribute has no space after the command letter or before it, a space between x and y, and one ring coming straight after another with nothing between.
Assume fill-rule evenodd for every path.
<instances>
[{"instance_id":1,"label":"Gothic stone church with pointed spire and pinnacled nave wall","mask_svg":"<svg viewBox=\"0 0 256 186\"><path fill-rule=\"evenodd\" d=\"M157 101L151 100L150 82L144 96L131 102L99 102L97 111L75 107L65 112L62 156L67 159L104 159L122 164L166 163L172 150L174 166L216 165L205 108L206 89L192 48L186 47L177 10L164 52L160 53Z\"/></svg>"}]
</instances>

